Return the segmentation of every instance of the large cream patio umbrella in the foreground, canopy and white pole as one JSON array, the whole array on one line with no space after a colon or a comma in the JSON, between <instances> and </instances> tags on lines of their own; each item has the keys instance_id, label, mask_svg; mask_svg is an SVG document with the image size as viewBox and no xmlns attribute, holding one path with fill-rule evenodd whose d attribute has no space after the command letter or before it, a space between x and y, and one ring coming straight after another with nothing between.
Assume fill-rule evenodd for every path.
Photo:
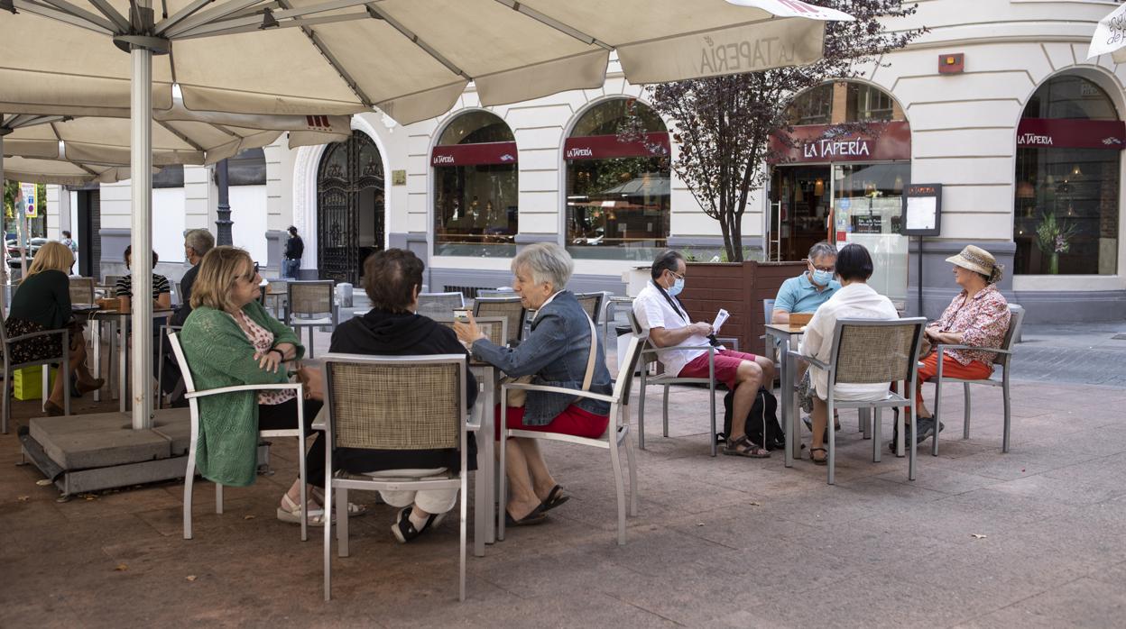
<instances>
[{"instance_id":1,"label":"large cream patio umbrella in the foreground, canopy and white pole","mask_svg":"<svg viewBox=\"0 0 1126 629\"><path fill-rule=\"evenodd\" d=\"M18 11L0 14L0 110L128 108L141 251L151 111L172 107L173 83L193 110L378 107L406 124L447 111L470 81L483 105L597 88L614 50L633 83L810 63L825 21L852 19L798 0L167 0L159 12L151 0L75 2L0 0ZM136 271L143 294L151 270ZM133 379L146 383L151 304L138 303L133 323ZM133 425L148 428L149 387L134 392Z\"/></svg>"}]
</instances>

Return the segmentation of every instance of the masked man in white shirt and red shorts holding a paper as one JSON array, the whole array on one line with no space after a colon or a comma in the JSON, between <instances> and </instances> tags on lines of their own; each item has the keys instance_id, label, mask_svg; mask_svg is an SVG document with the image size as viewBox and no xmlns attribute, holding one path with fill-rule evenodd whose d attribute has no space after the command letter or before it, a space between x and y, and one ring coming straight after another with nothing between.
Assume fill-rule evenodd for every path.
<instances>
[{"instance_id":1,"label":"masked man in white shirt and red shorts holding a paper","mask_svg":"<svg viewBox=\"0 0 1126 629\"><path fill-rule=\"evenodd\" d=\"M650 270L651 281L634 298L634 315L650 341L658 348L674 345L704 347L715 344L712 324L692 323L677 295L685 288L687 272L685 257L676 251L658 255ZM708 352L703 349L672 350L658 354L667 374L681 378L707 378ZM734 392L733 417L745 417L754 404L754 396L763 383L774 381L774 361L752 353L717 349L715 379ZM741 422L733 422L732 434L723 448L724 455L766 458L765 448L752 443L743 433Z\"/></svg>"}]
</instances>

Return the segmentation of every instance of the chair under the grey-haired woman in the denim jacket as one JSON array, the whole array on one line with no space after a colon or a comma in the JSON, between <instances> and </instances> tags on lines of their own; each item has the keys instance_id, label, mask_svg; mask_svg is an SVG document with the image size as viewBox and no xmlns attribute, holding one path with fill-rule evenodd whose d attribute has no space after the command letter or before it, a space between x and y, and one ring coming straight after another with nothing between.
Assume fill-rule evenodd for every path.
<instances>
[{"instance_id":1,"label":"chair under the grey-haired woman in the denim jacket","mask_svg":"<svg viewBox=\"0 0 1126 629\"><path fill-rule=\"evenodd\" d=\"M563 441L566 443L577 443L579 446L591 446L595 448L602 448L610 451L610 466L614 468L614 489L617 495L618 503L618 546L624 546L626 542L626 495L624 479L622 476L622 459L618 455L618 448L625 443L626 447L626 464L629 468L629 516L634 518L637 515L637 462L635 460L635 455L633 451L633 440L629 439L629 387L633 386L633 372L637 367L637 360L641 358L642 348L644 347L645 336L642 335L629 341L629 349L627 351L628 360L624 361L618 368L618 378L614 383L614 390L610 395L602 395L599 393L591 393L588 390L575 390L563 387L551 387L544 385L531 385L522 383L509 383L501 385L501 399L508 399L508 392L511 389L524 389L528 392L544 392L544 393L562 393L575 397L586 397L588 399L600 399L602 402L608 402L610 404L610 423L606 429L606 433L602 434L600 439L587 439L583 437L573 437L570 434L558 434L555 432L540 432L533 430L517 430L517 429L503 429L501 431L501 443L500 443L500 468L504 468L504 440L509 437L524 437L526 439L545 439L548 441ZM508 406L504 404L500 405L500 425L508 425L506 422L508 420ZM500 509L506 509L508 504L508 484L501 482L500 484ZM504 539L504 518L498 519L497 524L497 539Z\"/></svg>"}]
</instances>

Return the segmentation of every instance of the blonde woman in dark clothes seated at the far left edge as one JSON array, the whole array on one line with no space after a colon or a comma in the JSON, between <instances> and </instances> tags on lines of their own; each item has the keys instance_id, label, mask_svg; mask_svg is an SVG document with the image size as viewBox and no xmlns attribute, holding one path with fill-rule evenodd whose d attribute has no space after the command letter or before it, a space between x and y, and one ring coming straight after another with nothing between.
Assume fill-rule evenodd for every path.
<instances>
[{"instance_id":1,"label":"blonde woman in dark clothes seated at the far left edge","mask_svg":"<svg viewBox=\"0 0 1126 629\"><path fill-rule=\"evenodd\" d=\"M79 395L101 388L105 380L95 378L86 366L86 339L82 325L71 321L70 278L66 272L74 263L74 254L60 242L48 242L35 253L27 277L20 280L11 297L5 332L9 338L70 327L70 369L78 377ZM17 341L11 348L12 363L61 357L62 335L36 336ZM63 414L63 379L55 378L47 398L48 415Z\"/></svg>"}]
</instances>

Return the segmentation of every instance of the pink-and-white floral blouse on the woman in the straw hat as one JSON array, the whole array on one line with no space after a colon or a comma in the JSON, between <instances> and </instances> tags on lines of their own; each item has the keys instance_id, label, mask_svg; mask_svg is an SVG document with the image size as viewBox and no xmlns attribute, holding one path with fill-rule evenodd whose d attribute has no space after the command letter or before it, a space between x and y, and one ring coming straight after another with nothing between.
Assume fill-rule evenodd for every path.
<instances>
[{"instance_id":1,"label":"pink-and-white floral blouse on the woman in the straw hat","mask_svg":"<svg viewBox=\"0 0 1126 629\"><path fill-rule=\"evenodd\" d=\"M968 300L963 290L935 324L940 332L960 332L960 345L1000 348L1004 333L1009 331L1010 316L1009 303L991 284ZM949 350L947 353L960 365L977 360L992 366L997 357L997 352L976 350Z\"/></svg>"}]
</instances>

